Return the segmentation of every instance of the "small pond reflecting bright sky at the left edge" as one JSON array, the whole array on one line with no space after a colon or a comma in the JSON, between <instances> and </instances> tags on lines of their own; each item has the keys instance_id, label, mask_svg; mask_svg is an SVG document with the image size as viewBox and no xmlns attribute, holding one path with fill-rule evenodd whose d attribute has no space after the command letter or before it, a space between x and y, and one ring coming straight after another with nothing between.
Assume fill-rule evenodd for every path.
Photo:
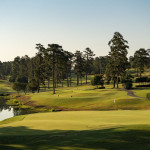
<instances>
[{"instance_id":1,"label":"small pond reflecting bright sky at the left edge","mask_svg":"<svg viewBox=\"0 0 150 150\"><path fill-rule=\"evenodd\" d=\"M30 112L27 110L21 109L20 106L9 106L6 104L8 101L7 98L0 96L0 121L18 116L29 114Z\"/></svg>"}]
</instances>

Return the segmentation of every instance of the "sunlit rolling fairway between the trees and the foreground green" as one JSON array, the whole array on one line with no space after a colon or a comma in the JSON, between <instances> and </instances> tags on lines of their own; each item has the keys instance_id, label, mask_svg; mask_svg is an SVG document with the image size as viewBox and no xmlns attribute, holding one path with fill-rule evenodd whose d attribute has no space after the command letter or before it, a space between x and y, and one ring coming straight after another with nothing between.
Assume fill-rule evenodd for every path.
<instances>
[{"instance_id":1,"label":"sunlit rolling fairway between the trees and the foreground green","mask_svg":"<svg viewBox=\"0 0 150 150\"><path fill-rule=\"evenodd\" d=\"M56 89L56 94L52 94L51 89L28 96L29 101L33 101L37 106L63 110L150 109L150 101L128 96L126 91L112 89L112 85L106 85L106 89L95 89L89 85L65 87Z\"/></svg>"}]
</instances>

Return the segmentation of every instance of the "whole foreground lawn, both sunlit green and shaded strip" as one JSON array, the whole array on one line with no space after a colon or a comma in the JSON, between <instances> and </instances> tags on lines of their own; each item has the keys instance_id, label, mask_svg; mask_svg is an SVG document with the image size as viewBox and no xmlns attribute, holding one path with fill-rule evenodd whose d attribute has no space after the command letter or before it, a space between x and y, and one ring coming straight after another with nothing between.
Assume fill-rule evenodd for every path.
<instances>
[{"instance_id":1,"label":"whole foreground lawn, both sunlit green and shaded strip","mask_svg":"<svg viewBox=\"0 0 150 150\"><path fill-rule=\"evenodd\" d=\"M71 111L15 117L0 125L0 149L148 150L150 111Z\"/></svg>"}]
</instances>

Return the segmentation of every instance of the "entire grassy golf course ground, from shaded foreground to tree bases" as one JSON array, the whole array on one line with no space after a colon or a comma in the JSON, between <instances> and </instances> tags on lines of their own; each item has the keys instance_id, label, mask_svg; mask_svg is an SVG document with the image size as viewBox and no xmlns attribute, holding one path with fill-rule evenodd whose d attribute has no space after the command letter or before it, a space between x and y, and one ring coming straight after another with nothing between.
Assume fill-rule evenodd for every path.
<instances>
[{"instance_id":1,"label":"entire grassy golf course ground, from shaded foreground to tree bases","mask_svg":"<svg viewBox=\"0 0 150 150\"><path fill-rule=\"evenodd\" d=\"M14 95L7 81L1 92ZM149 88L129 91L119 85L96 89L91 85L58 88L40 93L20 93L23 108L38 113L0 122L0 148L18 150L150 149ZM17 95L17 94L16 94ZM115 99L115 102L114 102ZM49 112L54 109L54 112Z\"/></svg>"}]
</instances>

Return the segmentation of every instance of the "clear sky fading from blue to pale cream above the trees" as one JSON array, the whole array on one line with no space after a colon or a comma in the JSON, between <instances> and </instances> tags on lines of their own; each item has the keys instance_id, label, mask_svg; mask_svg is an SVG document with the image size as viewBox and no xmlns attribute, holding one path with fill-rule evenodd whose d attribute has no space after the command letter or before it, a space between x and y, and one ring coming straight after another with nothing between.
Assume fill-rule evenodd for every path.
<instances>
[{"instance_id":1,"label":"clear sky fading from blue to pale cream above the trees","mask_svg":"<svg viewBox=\"0 0 150 150\"><path fill-rule=\"evenodd\" d=\"M0 0L0 61L34 56L35 45L108 55L114 32L128 41L128 56L150 48L150 0Z\"/></svg>"}]
</instances>

